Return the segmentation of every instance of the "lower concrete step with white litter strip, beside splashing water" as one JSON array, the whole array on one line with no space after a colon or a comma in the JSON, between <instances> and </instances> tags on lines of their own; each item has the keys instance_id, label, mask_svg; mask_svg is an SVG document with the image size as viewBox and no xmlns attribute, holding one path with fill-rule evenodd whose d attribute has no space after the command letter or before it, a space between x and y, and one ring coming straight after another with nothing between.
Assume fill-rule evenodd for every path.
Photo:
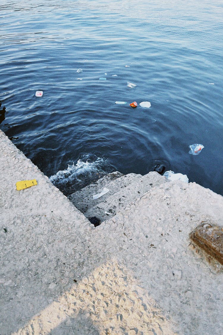
<instances>
[{"instance_id":1,"label":"lower concrete step with white litter strip, beside splashing water","mask_svg":"<svg viewBox=\"0 0 223 335\"><path fill-rule=\"evenodd\" d=\"M89 208L96 206L113 193L117 192L119 188L126 187L129 182L140 178L141 175L129 174L127 176L122 175L116 171L110 173L103 178L99 179L96 183L90 184L85 188L71 194L68 198L82 213L85 213ZM101 198L94 200L93 195L100 193L104 187L107 187L110 191L103 195Z\"/></svg>"}]
</instances>

